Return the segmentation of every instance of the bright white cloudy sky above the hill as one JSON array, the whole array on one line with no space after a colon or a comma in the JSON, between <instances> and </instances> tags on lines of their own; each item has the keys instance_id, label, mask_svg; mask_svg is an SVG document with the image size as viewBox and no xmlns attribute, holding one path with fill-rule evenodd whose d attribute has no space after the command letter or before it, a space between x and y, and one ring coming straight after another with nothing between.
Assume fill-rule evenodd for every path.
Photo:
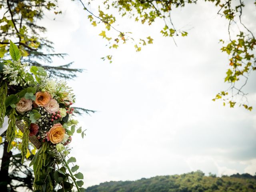
<instances>
[{"instance_id":1,"label":"bright white cloudy sky above the hill","mask_svg":"<svg viewBox=\"0 0 256 192\"><path fill-rule=\"evenodd\" d=\"M48 29L44 36L55 43L56 52L69 55L54 65L74 61L74 68L86 69L68 80L76 106L97 111L78 117L86 136L74 136L70 144L85 187L196 170L255 174L255 109L212 101L229 86L224 83L228 56L218 43L228 38L228 23L213 4L174 10L176 28L188 30L188 37L175 38L178 46L160 34L161 20L152 26L118 20L116 28L154 39L141 52L130 43L109 50L98 36L101 28L90 25L78 2L62 0L59 6L62 15L47 12L38 24ZM89 8L95 12L97 6ZM252 1L246 3L242 20L256 33L255 9ZM111 64L100 60L108 54ZM254 108L255 80L251 74L245 86Z\"/></svg>"}]
</instances>

